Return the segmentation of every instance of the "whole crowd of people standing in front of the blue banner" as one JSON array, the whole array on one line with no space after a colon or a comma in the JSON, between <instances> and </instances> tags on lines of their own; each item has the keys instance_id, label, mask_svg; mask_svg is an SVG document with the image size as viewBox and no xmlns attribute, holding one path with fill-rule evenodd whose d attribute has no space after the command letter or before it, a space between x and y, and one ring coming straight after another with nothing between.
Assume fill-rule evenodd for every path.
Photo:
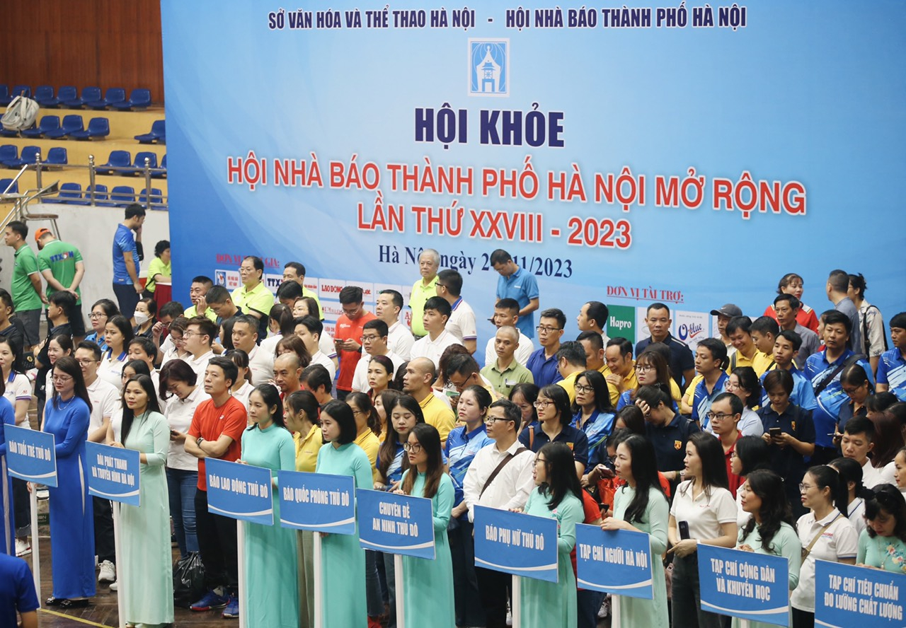
<instances>
[{"instance_id":1,"label":"whole crowd of people standing in front of the blue banner","mask_svg":"<svg viewBox=\"0 0 906 628\"><path fill-rule=\"evenodd\" d=\"M622 599L623 626L726 625L700 603L700 544L786 557L796 628L814 625L816 559L906 573L906 312L888 321L888 349L862 275L832 271L831 307L818 314L787 274L761 316L714 309L717 337L694 350L670 334L670 308L652 303L650 337L633 346L608 337L596 300L564 339L566 314L540 309L534 277L497 250L496 335L481 353L463 278L440 270L437 252L421 252L408 303L381 290L372 313L361 288L345 287L332 338L300 262L285 265L275 295L249 256L236 290L199 275L188 308L157 303L169 243L142 286L144 216L126 209L114 299L92 304L90 327L81 254L41 229L35 255L25 224L5 229L15 266L0 289L0 416L56 437L48 605L85 606L106 582L130 624L172 623L175 542L205 568L193 611L313 626L320 580L325 625L395 626L390 555L327 535L315 573L313 533L279 525L243 524L240 609L236 523L207 507L208 458L268 468L274 482L276 471L315 471L429 498L437 559L407 558L401 592L419 625L506 625L512 578L475 564L477 505L558 522L558 580L522 578L525 626L585 628L609 612L607 596L576 586L578 523L644 532L661 559L653 599ZM120 508L120 565L111 504L88 493L87 441L140 452L141 506ZM4 442L0 430L0 453ZM0 480L2 553L24 556L36 532L29 488ZM279 520L277 497L274 507ZM0 572L14 569L0 560Z\"/></svg>"}]
</instances>

